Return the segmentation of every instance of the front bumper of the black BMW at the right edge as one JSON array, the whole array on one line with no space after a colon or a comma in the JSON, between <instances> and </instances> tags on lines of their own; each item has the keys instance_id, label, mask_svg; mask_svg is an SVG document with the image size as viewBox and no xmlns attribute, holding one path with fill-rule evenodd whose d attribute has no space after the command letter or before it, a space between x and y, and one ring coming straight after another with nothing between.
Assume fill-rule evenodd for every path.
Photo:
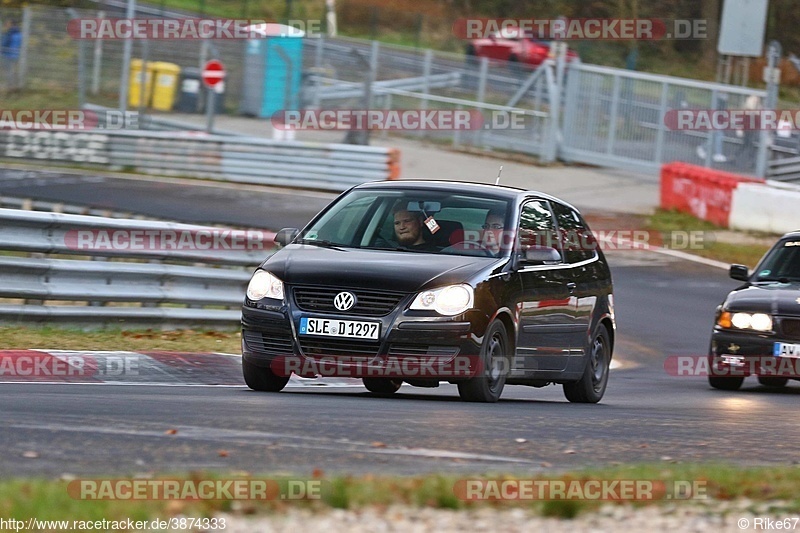
<instances>
[{"instance_id":1,"label":"front bumper of the black BMW at the right edge","mask_svg":"<svg viewBox=\"0 0 800 533\"><path fill-rule=\"evenodd\" d=\"M785 377L800 379L800 358L775 355L775 344L798 344L774 333L715 328L711 335L709 370L720 377Z\"/></svg>"}]
</instances>

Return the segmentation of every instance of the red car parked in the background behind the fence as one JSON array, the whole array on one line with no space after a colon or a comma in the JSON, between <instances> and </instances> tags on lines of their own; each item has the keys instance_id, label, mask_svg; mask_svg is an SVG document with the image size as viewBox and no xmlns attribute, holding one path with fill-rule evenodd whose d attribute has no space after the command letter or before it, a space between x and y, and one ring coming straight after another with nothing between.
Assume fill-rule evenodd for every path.
<instances>
[{"instance_id":1,"label":"red car parked in the background behind the fence","mask_svg":"<svg viewBox=\"0 0 800 533\"><path fill-rule=\"evenodd\" d=\"M487 38L471 40L466 52L468 58L488 57L535 68L551 57L550 43L519 28L506 27ZM567 61L575 59L578 59L578 54L567 49Z\"/></svg>"}]
</instances>

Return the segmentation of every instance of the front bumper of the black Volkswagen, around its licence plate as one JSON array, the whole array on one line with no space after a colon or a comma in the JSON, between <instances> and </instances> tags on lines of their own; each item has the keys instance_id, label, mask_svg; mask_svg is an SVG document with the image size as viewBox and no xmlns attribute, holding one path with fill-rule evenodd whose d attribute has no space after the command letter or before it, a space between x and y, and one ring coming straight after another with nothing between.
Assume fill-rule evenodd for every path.
<instances>
[{"instance_id":1,"label":"front bumper of the black Volkswagen, around its licence plate","mask_svg":"<svg viewBox=\"0 0 800 533\"><path fill-rule=\"evenodd\" d=\"M411 296L385 316L315 313L293 302L245 301L242 357L278 375L388 377L431 381L468 379L481 370L488 317L476 310L456 317L407 310ZM303 317L377 322L377 340L300 335Z\"/></svg>"}]
</instances>

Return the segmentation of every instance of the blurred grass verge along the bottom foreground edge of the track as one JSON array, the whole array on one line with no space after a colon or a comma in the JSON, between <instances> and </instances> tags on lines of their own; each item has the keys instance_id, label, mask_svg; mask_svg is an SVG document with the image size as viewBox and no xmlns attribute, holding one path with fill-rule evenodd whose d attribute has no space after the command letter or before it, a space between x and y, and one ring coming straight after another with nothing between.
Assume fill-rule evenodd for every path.
<instances>
[{"instance_id":1,"label":"blurred grass verge along the bottom foreground edge of the track","mask_svg":"<svg viewBox=\"0 0 800 533\"><path fill-rule=\"evenodd\" d=\"M270 514L286 511L293 506L325 511L328 509L361 509L370 506L386 507L389 505L405 505L410 507L431 507L438 509L471 509L482 506L492 508L524 508L543 516L573 518L580 513L599 508L605 503L601 500L564 499L514 500L514 501L465 501L459 495L464 494L464 480L484 481L531 481L539 483L555 481L570 483L573 481L613 481L643 480L654 485L663 483L673 487L681 483L693 483L702 488L704 493L657 499L619 500L617 503L633 503L636 506L659 504L700 503L709 504L719 501L747 499L754 506L769 504L775 511L800 511L800 468L799 467L753 467L740 468L731 465L668 465L645 464L621 466L611 469L580 470L567 474L537 475L520 478L513 475L491 476L453 476L433 474L422 477L325 477L315 472L313 477L276 477L269 475L237 474L236 477L218 473L193 473L183 476L165 476L155 479L188 480L196 485L200 481L229 479L250 479L265 481L276 490L268 490L269 499L258 500L88 500L80 496L80 480L4 480L0 482L0 516L27 520L36 517L40 520L152 520L178 515L194 517L212 517L218 513L234 514ZM102 479L125 480L130 478ZM153 479L153 478L151 478ZM677 483L676 483L677 482ZM300 494L292 490L303 483L313 483L320 487L319 498L288 497ZM191 484L189 484L191 485ZM576 486L579 484L575 484ZM183 484L181 486L186 486ZM311 486L306 484L303 486ZM483 487L490 487L484 484ZM497 486L497 485L495 485ZM572 485L567 485L572 486ZM96 489L93 489L96 490ZM657 491L653 491L654 494ZM91 493L90 493L91 494ZM98 493L99 494L99 493ZM484 492L483 494L489 494ZM536 494L534 492L533 494ZM586 494L589 494L587 489ZM660 493L663 495L663 493Z\"/></svg>"}]
</instances>

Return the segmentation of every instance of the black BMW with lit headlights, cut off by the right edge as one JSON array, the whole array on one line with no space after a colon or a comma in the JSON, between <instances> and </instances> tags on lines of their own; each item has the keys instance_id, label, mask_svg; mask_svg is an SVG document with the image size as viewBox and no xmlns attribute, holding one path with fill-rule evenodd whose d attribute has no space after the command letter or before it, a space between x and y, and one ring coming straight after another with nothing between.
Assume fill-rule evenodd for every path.
<instances>
[{"instance_id":1,"label":"black BMW with lit headlights, cut off by the right edge","mask_svg":"<svg viewBox=\"0 0 800 533\"><path fill-rule=\"evenodd\" d=\"M737 390L750 375L768 387L800 379L800 231L784 235L717 308L709 353L712 387Z\"/></svg>"}]
</instances>

